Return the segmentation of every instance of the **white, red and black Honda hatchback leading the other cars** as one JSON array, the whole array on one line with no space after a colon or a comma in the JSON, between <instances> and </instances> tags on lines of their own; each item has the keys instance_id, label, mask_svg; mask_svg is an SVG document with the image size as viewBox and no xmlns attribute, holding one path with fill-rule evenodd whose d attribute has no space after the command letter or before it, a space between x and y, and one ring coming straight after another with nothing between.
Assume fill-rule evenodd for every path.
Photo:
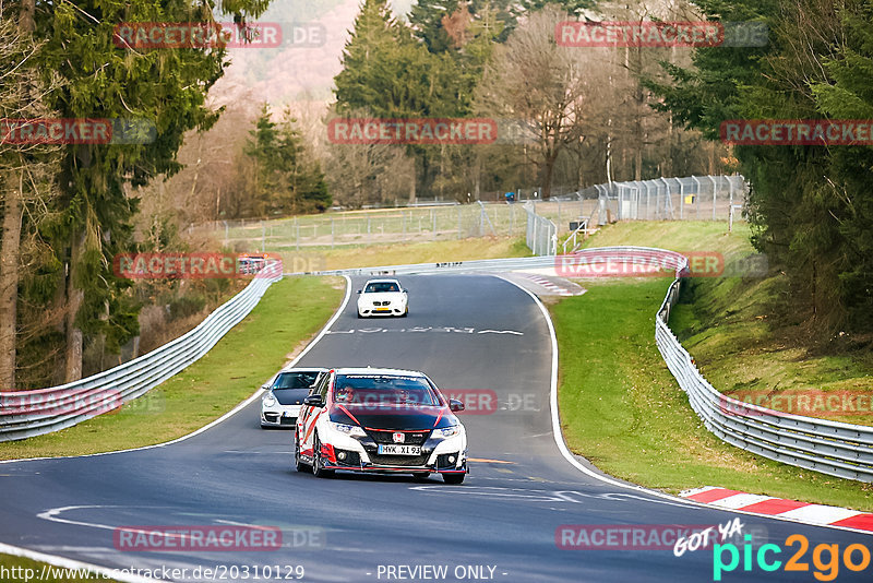
<instances>
[{"instance_id":1,"label":"white, red and black Honda hatchback leading the other cars","mask_svg":"<svg viewBox=\"0 0 873 583\"><path fill-rule=\"evenodd\" d=\"M467 474L467 433L447 400L421 372L343 368L303 400L295 432L299 472L436 473L447 484Z\"/></svg>"}]
</instances>

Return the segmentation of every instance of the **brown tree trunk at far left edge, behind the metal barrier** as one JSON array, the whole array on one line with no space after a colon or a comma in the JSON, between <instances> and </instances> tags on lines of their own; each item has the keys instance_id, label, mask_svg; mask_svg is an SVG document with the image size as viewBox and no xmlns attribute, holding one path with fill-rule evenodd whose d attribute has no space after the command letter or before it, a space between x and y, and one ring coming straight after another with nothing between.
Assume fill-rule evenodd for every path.
<instances>
[{"instance_id":1,"label":"brown tree trunk at far left edge, behind the metal barrier","mask_svg":"<svg viewBox=\"0 0 873 583\"><path fill-rule=\"evenodd\" d=\"M19 248L21 247L22 189L24 170L17 183L3 182L3 235L0 247L0 391L15 390L15 324L19 299Z\"/></svg>"}]
</instances>

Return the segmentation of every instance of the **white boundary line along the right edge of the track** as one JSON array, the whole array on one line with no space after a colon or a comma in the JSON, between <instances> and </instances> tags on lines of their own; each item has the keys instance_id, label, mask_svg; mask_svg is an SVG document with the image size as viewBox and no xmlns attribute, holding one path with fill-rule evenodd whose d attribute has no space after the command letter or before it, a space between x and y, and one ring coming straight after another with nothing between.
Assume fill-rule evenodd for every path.
<instances>
[{"instance_id":1,"label":"white boundary line along the right edge of the track","mask_svg":"<svg viewBox=\"0 0 873 583\"><path fill-rule=\"evenodd\" d=\"M671 500L673 502L682 502L684 505L687 505L687 507L706 508L706 509L709 509L709 510L717 510L717 511L729 512L729 513L733 513L733 514L744 514L746 516L755 516L755 517L758 517L758 519L770 519L770 520L777 520L777 521L782 521L782 522L793 522L793 523L798 523L798 524L805 524L808 526L821 526L822 528L834 528L834 530L838 530L838 531L848 531L848 532L851 532L851 533L859 533L859 534L865 534L865 535L873 534L870 531L860 531L858 528L849 528L847 526L834 526L834 525L830 525L830 524L816 524L816 523L813 523L813 522L800 521L800 520L790 519L790 517L787 517L787 516L770 515L770 514L758 514L758 513L755 513L755 512L746 512L746 511L743 511L743 510L731 510L731 509L723 509L723 508L714 507L714 505L710 505L710 504L704 504L702 502L695 502L694 500L689 500L686 498L680 498L678 496L665 493L665 492L661 492L661 491L658 491L658 490L650 490L648 488L644 488L643 486L634 486L634 485L631 485L631 484L624 484L624 483L619 481L617 479L613 479L613 478L611 478L609 476L606 476L606 475L602 475L602 474L598 474L597 472L594 472L588 467L585 467L583 464L581 464L578 462L578 460L576 460L573 456L573 453L571 453L571 451L567 449L566 443L564 442L564 435L561 431L561 419L560 419L560 416L558 414L558 335L554 333L554 324L552 323L552 318L549 314L549 310L546 308L546 306L542 304L542 301L537 297L537 295L534 294L533 291L529 291L528 289L524 288L523 286L516 284L515 282L513 282L512 279L509 279L506 277L502 277L500 275L495 275L495 277L500 277L504 282L507 282L507 283L514 285L515 287L517 287L518 289L521 289L522 291L524 291L525 294L530 296L530 298L534 300L534 304L536 304L537 307L539 307L539 310L542 312L542 317L546 319L546 324L549 326L549 336L551 337L551 345L552 345L552 373L551 373L551 386L550 386L550 390L549 390L549 406L551 408L551 416L552 416L552 436L554 437L555 445L558 445L558 451L561 452L561 455L563 455L564 460L570 462L570 464L573 465L573 467L575 467L576 469L578 469L583 474L585 474L587 476L590 476L590 477L593 477L593 478L595 478L595 479L597 479L599 481L602 481L605 484L609 484L610 486L615 486L615 487L624 488L624 489L627 489L627 490L635 490L635 491L638 491L638 492L644 492L644 493L647 493L649 496L663 498L666 500Z\"/></svg>"}]
</instances>

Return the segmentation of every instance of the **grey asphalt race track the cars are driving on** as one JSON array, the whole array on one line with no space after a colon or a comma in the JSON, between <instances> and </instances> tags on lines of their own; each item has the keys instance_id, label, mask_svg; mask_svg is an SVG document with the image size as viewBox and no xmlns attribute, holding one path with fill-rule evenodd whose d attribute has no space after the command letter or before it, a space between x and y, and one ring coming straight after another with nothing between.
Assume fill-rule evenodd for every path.
<instances>
[{"instance_id":1,"label":"grey asphalt race track the cars are driving on","mask_svg":"<svg viewBox=\"0 0 873 583\"><path fill-rule=\"evenodd\" d=\"M291 432L262 430L255 401L168 447L0 465L0 542L112 568L191 572L198 566L236 564L249 566L251 573L254 566L276 566L285 580L285 566L302 566L302 581L344 582L476 581L476 575L525 583L713 581L711 550L682 557L672 549L566 550L555 542L564 524L715 525L740 516L755 547L786 548L792 534L810 540L802 557L808 572L764 572L756 564L744 572L740 564L722 581L816 581L816 545L838 544L840 554L851 544L873 548L869 535L695 507L579 472L552 435L551 341L531 298L488 275L400 281L409 289L408 318L359 320L352 293L330 333L299 365L409 368L426 372L447 393L493 391L499 406L485 403L486 411L462 414L469 456L480 460L470 463L462 486L436 477L420 484L407 476L318 479L298 473ZM355 279L354 289L361 284ZM119 526L223 524L278 526L283 547L131 552L113 545ZM416 579L395 570L388 579L388 566L447 570L444 578L427 572L429 578ZM871 570L852 572L841 564L836 581L869 582Z\"/></svg>"}]
</instances>

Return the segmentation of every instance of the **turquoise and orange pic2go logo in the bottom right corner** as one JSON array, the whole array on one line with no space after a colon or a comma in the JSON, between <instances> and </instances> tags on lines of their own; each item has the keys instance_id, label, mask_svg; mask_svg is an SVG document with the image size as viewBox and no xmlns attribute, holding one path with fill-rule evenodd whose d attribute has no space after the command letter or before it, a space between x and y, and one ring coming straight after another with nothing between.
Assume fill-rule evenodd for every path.
<instances>
[{"instance_id":1,"label":"turquoise and orange pic2go logo in the bottom right corner","mask_svg":"<svg viewBox=\"0 0 873 583\"><path fill-rule=\"evenodd\" d=\"M767 544L758 547L753 552L752 535L743 537L745 544L742 548L742 570L753 571L755 563L762 571L778 571L782 561L777 559L782 554L779 545ZM798 546L797 551L785 562L785 571L809 572L810 563L803 558L810 549L810 542L803 535L791 535L785 539L786 547ZM741 551L733 544L715 545L713 547L713 580L721 581L722 573L729 573L740 567ZM726 562L727 561L727 562ZM840 562L849 571L863 571L870 567L870 549L861 544L847 546L840 554L840 546L836 544L821 544L812 550L812 563L815 567L813 576L818 581L834 581L839 574Z\"/></svg>"}]
</instances>

